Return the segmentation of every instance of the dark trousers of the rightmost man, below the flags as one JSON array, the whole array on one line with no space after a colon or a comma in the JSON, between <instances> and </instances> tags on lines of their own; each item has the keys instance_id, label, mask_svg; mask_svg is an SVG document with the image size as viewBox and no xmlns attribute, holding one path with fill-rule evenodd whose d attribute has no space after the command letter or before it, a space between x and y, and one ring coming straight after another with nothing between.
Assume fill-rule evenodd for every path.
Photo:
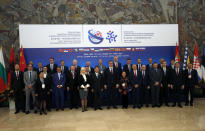
<instances>
[{"instance_id":1,"label":"dark trousers of the rightmost man, below the flags","mask_svg":"<svg viewBox=\"0 0 205 131\"><path fill-rule=\"evenodd\" d=\"M189 92L190 92L190 101L189 101ZM194 101L194 86L186 86L185 87L185 102L186 104L193 104Z\"/></svg>"}]
</instances>

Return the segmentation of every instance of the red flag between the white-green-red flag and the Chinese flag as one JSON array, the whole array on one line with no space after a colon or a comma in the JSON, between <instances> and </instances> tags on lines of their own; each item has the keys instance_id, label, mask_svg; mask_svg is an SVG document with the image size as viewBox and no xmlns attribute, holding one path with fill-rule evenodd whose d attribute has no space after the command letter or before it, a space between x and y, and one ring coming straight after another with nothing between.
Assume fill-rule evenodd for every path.
<instances>
[{"instance_id":1,"label":"red flag between the white-green-red flag and the Chinese flag","mask_svg":"<svg viewBox=\"0 0 205 131\"><path fill-rule=\"evenodd\" d=\"M11 85L11 73L14 71L15 56L14 56L14 47L11 47L11 55L9 59L9 73L8 73L8 87Z\"/></svg>"}]
</instances>

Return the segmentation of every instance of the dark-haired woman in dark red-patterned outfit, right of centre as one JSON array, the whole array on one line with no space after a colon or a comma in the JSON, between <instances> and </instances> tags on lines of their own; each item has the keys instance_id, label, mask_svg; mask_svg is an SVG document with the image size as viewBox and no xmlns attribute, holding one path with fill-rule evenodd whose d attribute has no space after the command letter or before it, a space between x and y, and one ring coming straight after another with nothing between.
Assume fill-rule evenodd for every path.
<instances>
[{"instance_id":1,"label":"dark-haired woman in dark red-patterned outfit, right of centre","mask_svg":"<svg viewBox=\"0 0 205 131\"><path fill-rule=\"evenodd\" d=\"M128 107L128 92L129 92L129 79L126 75L126 72L122 72L120 78L120 92L122 94L122 108L127 109Z\"/></svg>"}]
</instances>

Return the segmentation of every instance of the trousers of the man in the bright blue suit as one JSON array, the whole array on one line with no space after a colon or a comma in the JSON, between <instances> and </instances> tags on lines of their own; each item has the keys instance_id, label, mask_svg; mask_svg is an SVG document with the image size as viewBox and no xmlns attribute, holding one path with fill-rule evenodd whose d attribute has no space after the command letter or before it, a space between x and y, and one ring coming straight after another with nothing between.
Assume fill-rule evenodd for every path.
<instances>
[{"instance_id":1,"label":"trousers of the man in the bright blue suit","mask_svg":"<svg viewBox=\"0 0 205 131\"><path fill-rule=\"evenodd\" d=\"M55 89L55 103L57 109L64 107L64 88Z\"/></svg>"}]
</instances>

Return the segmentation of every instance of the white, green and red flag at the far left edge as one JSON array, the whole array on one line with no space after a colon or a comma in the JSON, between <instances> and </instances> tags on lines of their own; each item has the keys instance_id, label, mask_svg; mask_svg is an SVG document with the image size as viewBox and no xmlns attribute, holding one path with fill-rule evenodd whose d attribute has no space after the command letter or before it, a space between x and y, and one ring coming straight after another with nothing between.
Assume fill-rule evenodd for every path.
<instances>
[{"instance_id":1,"label":"white, green and red flag at the far left edge","mask_svg":"<svg viewBox=\"0 0 205 131\"><path fill-rule=\"evenodd\" d=\"M2 47L0 47L0 92L4 92L8 87L7 73L4 63Z\"/></svg>"}]
</instances>

